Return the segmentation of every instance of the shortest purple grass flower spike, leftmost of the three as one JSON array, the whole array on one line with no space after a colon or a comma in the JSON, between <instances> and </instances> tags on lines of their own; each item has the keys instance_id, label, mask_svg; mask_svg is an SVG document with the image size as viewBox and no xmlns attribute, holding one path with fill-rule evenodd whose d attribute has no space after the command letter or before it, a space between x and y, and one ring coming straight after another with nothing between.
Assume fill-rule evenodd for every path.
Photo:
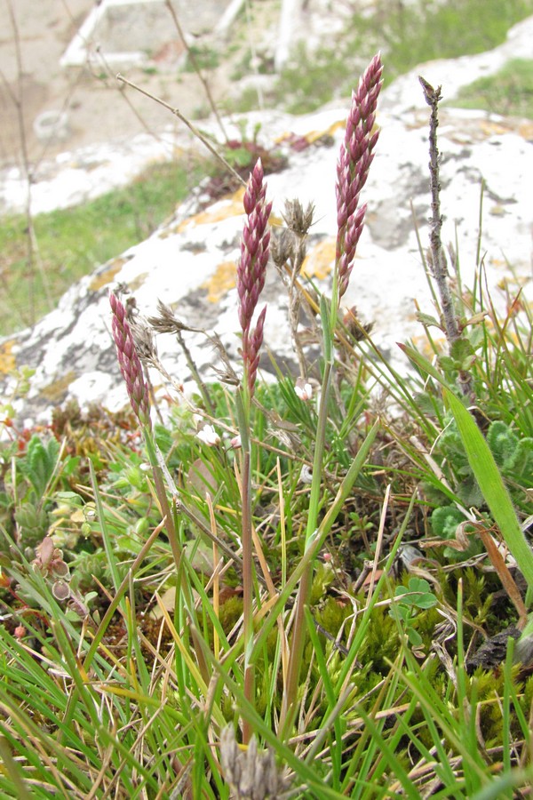
<instances>
[{"instance_id":1,"label":"shortest purple grass flower spike, leftmost of the three","mask_svg":"<svg viewBox=\"0 0 533 800\"><path fill-rule=\"evenodd\" d=\"M126 381L131 408L141 425L149 426L150 404L147 382L144 380L142 366L126 319L126 309L114 292L109 292L109 303L113 312L111 330L116 346L118 364Z\"/></svg>"}]
</instances>

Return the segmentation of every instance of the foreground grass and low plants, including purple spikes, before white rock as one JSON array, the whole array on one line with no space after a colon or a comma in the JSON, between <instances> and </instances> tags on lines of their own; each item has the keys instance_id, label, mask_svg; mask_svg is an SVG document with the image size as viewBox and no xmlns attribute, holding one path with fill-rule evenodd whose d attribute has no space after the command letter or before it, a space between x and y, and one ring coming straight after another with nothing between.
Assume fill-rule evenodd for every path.
<instances>
[{"instance_id":1,"label":"foreground grass and low plants, including purple spikes, before white rock","mask_svg":"<svg viewBox=\"0 0 533 800\"><path fill-rule=\"evenodd\" d=\"M201 332L219 357L206 384L187 321L163 304L143 320L112 292L131 412L69 405L26 431L4 405L2 796L529 795L531 308L504 290L502 318L482 260L472 287L457 257L447 275L426 82L435 308L426 342L402 346L409 377L342 308L381 85L376 57L338 159L330 294L300 274L313 207L287 204L274 236L259 160L237 371ZM258 374L269 259L300 371L275 364L274 384ZM158 332L184 349L195 396L164 374ZM178 396L164 422L147 365Z\"/></svg>"}]
</instances>

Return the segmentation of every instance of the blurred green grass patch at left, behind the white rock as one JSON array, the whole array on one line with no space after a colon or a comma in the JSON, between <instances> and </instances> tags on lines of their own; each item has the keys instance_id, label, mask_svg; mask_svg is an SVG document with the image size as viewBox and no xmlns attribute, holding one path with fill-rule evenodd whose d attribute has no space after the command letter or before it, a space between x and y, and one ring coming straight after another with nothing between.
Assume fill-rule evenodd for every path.
<instances>
[{"instance_id":1,"label":"blurred green grass patch at left, behind the white rock","mask_svg":"<svg viewBox=\"0 0 533 800\"><path fill-rule=\"evenodd\" d=\"M0 227L0 335L36 322L84 275L146 239L205 175L205 164L155 164L130 186L90 203L33 219L42 268L28 265L28 222L8 216Z\"/></svg>"}]
</instances>

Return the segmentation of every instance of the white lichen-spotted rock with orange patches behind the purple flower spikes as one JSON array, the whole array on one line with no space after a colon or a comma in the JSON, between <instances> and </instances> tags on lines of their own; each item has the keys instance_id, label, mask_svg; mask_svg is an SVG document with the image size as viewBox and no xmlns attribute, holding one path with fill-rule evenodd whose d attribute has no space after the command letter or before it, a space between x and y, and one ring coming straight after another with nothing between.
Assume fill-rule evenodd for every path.
<instances>
[{"instance_id":1,"label":"white lichen-spotted rock with orange patches behind the purple flower spikes","mask_svg":"<svg viewBox=\"0 0 533 800\"><path fill-rule=\"evenodd\" d=\"M434 79L435 69L425 68L424 76ZM422 97L416 77L410 79L415 84L410 98L413 92ZM444 85L445 93L447 88ZM414 300L422 310L434 313L411 212L412 206L426 248L428 116L423 101L412 103L397 84L378 103L381 133L362 196L368 204L366 226L345 298L346 307L356 305L363 322L375 322L373 339L403 369L405 361L395 342L421 332ZM335 168L345 118L346 109L333 109L304 117L266 112L252 115L250 122L252 126L259 119L266 143L289 133L309 143L299 152L290 148L288 139L279 144L288 166L268 176L267 197L274 200L274 221L281 221L285 199L297 196L303 204L314 203L306 273L321 287L328 286L335 250ZM509 285L512 293L523 286L530 301L533 123L443 108L439 135L443 240L455 243L457 237L463 283L471 285L476 268L483 180L481 252L489 286L495 297L498 284ZM13 402L20 420L48 420L51 407L68 398L76 398L82 406L100 402L111 410L126 403L107 300L109 289L118 282L130 288L142 315L154 314L161 299L187 324L219 332L230 355L237 356L235 262L243 226L242 197L239 190L204 206L200 192L192 196L147 241L74 285L59 308L33 329L0 343L0 392L6 401L14 387L9 372L23 364L36 369L28 396ZM286 294L274 268L264 300L267 347L286 360L288 369L296 369L291 366ZM219 364L203 336L187 334L187 345L204 378L216 378L213 365ZM168 372L187 386L187 365L171 335L158 337L158 349ZM161 386L155 373L152 379Z\"/></svg>"}]
</instances>

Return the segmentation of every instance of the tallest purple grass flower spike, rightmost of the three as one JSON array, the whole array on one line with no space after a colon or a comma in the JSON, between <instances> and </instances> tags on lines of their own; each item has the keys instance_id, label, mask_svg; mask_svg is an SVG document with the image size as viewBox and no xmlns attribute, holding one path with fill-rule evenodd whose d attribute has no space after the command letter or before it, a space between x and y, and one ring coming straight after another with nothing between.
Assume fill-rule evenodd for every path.
<instances>
[{"instance_id":1,"label":"tallest purple grass flower spike, rightmost of the three","mask_svg":"<svg viewBox=\"0 0 533 800\"><path fill-rule=\"evenodd\" d=\"M337 164L337 250L338 300L345 294L354 267L355 249L362 233L366 205L359 208L359 196L374 159L379 132L376 121L378 94L383 84L381 56L370 61L352 93L352 107L346 121L345 140Z\"/></svg>"}]
</instances>

